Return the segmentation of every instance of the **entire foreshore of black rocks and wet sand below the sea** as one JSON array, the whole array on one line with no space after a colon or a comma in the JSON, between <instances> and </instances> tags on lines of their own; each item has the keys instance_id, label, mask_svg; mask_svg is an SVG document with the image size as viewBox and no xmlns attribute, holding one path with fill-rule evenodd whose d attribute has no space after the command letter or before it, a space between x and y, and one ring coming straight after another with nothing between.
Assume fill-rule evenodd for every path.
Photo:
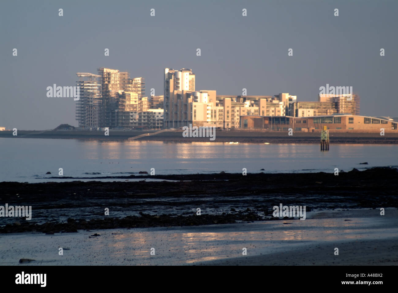
<instances>
[{"instance_id":1,"label":"entire foreshore of black rocks and wet sand below the sea","mask_svg":"<svg viewBox=\"0 0 398 293\"><path fill-rule=\"evenodd\" d=\"M398 264L397 169L141 178L0 183L2 203L33 208L2 218L0 265ZM272 217L279 203L305 205L306 220Z\"/></svg>"}]
</instances>

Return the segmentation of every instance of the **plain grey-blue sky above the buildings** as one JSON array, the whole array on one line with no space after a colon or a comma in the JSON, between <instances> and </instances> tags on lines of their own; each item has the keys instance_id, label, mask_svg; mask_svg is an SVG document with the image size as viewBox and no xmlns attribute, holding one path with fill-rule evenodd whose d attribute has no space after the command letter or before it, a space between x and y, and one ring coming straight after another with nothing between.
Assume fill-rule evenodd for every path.
<instances>
[{"instance_id":1,"label":"plain grey-blue sky above the buildings","mask_svg":"<svg viewBox=\"0 0 398 293\"><path fill-rule=\"evenodd\" d=\"M316 101L327 83L352 86L361 115L396 117L397 8L383 0L2 2L0 126L77 126L73 98L47 98L46 88L74 86L76 72L98 67L144 77L146 95L163 94L165 67L191 68L196 89L217 94L247 88Z\"/></svg>"}]
</instances>

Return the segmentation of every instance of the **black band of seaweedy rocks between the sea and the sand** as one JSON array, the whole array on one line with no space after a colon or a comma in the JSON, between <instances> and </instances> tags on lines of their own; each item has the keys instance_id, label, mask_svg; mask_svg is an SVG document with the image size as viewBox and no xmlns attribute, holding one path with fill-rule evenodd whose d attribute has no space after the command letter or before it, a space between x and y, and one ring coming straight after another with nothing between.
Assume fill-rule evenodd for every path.
<instances>
[{"instance_id":1,"label":"black band of seaweedy rocks between the sea and the sand","mask_svg":"<svg viewBox=\"0 0 398 293\"><path fill-rule=\"evenodd\" d=\"M99 182L0 183L0 205L31 205L33 218L14 218L1 224L0 232L76 232L79 229L191 226L273 220L272 206L305 205L311 209L398 207L397 169L353 169L331 173L197 174L144 175L140 178L179 180L178 182ZM130 176L125 178L131 178ZM149 205L182 207L169 213L142 212ZM148 205L148 204L147 204ZM104 216L105 207L121 206L140 211L137 216ZM190 207L190 208L189 208ZM201 207L197 216L191 208ZM88 208L86 218L34 222L35 209L68 210ZM214 210L219 209L216 213ZM145 209L144 209L145 210ZM166 209L167 210L167 209ZM208 212L212 210L213 212ZM1 222L0 222L1 223ZM4 222L3 222L4 223Z\"/></svg>"}]
</instances>

